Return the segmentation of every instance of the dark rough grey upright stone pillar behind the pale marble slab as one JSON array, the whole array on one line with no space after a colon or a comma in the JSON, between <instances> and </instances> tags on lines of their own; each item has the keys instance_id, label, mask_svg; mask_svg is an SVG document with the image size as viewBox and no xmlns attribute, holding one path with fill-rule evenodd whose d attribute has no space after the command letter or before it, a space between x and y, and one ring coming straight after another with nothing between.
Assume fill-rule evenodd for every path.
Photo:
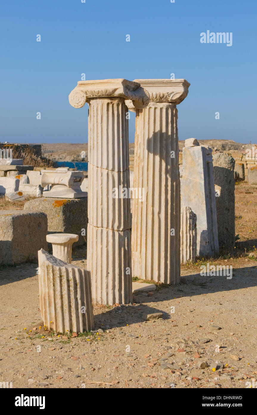
<instances>
[{"instance_id":1,"label":"dark rough grey upright stone pillar behind the pale marble slab","mask_svg":"<svg viewBox=\"0 0 257 415\"><path fill-rule=\"evenodd\" d=\"M213 156L219 249L235 245L235 160L228 153Z\"/></svg>"}]
</instances>

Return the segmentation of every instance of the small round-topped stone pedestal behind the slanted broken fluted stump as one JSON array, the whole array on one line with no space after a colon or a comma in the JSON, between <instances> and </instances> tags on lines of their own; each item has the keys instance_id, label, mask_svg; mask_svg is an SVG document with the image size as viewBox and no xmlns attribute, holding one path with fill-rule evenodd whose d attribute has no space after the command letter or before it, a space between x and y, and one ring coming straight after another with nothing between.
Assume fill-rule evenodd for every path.
<instances>
[{"instance_id":1,"label":"small round-topped stone pedestal behind the slanted broken fluted stump","mask_svg":"<svg viewBox=\"0 0 257 415\"><path fill-rule=\"evenodd\" d=\"M77 242L79 235L75 234L49 234L46 235L46 241L53 246L53 256L61 259L67 264L71 264L72 244Z\"/></svg>"}]
</instances>

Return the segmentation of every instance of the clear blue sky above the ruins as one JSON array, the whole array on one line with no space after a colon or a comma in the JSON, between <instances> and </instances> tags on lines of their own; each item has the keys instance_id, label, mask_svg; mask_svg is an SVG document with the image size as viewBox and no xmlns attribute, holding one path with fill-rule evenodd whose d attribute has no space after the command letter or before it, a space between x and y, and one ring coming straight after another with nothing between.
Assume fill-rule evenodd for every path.
<instances>
[{"instance_id":1,"label":"clear blue sky above the ruins","mask_svg":"<svg viewBox=\"0 0 257 415\"><path fill-rule=\"evenodd\" d=\"M68 101L81 73L175 73L191 83L178 105L180 140L256 142L256 15L256 0L2 0L0 142L87 142L88 105ZM207 30L232 32L232 46L200 43ZM129 127L133 142L132 113Z\"/></svg>"}]
</instances>

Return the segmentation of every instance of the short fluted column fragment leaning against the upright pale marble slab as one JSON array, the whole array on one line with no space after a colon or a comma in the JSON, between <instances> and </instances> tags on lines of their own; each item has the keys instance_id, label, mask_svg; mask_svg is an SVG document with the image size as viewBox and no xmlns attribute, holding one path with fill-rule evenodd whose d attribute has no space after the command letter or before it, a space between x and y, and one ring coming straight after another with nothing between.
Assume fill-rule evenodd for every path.
<instances>
[{"instance_id":1,"label":"short fluted column fragment leaning against the upright pale marble slab","mask_svg":"<svg viewBox=\"0 0 257 415\"><path fill-rule=\"evenodd\" d=\"M180 261L193 262L196 257L197 217L191 207L181 207Z\"/></svg>"}]
</instances>

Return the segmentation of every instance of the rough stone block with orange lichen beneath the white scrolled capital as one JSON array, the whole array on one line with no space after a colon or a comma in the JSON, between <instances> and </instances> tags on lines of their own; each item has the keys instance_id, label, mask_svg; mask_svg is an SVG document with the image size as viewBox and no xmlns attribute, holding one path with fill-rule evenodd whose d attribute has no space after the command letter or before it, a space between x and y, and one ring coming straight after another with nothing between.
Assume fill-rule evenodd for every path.
<instances>
[{"instance_id":1,"label":"rough stone block with orange lichen beneath the white scrolled capital","mask_svg":"<svg viewBox=\"0 0 257 415\"><path fill-rule=\"evenodd\" d=\"M45 212L48 217L48 233L79 235L79 240L74 242L73 247L86 244L87 198L38 198L26 202L24 210Z\"/></svg>"}]
</instances>

